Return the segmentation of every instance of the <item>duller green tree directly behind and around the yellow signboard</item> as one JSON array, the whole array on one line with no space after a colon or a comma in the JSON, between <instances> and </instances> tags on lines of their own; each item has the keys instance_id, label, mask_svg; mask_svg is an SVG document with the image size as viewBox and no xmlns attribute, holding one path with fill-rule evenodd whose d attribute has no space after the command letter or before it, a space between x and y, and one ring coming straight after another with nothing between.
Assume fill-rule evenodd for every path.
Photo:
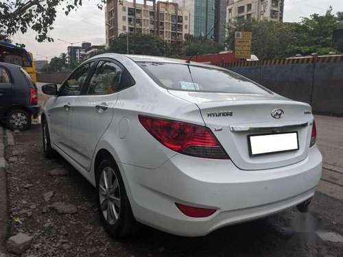
<instances>
[{"instance_id":1,"label":"duller green tree directly behind and around the yellow signboard","mask_svg":"<svg viewBox=\"0 0 343 257\"><path fill-rule=\"evenodd\" d=\"M285 49L296 34L292 23L256 21L255 19L236 19L228 23L226 46L235 51L235 32L252 32L252 53L259 59L284 58Z\"/></svg>"}]
</instances>

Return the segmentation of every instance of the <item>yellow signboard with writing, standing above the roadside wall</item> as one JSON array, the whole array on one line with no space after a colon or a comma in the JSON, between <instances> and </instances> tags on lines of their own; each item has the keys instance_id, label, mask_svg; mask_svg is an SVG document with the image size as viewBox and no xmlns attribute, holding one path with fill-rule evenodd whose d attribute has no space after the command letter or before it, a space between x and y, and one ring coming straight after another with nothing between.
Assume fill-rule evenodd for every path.
<instances>
[{"instance_id":1,"label":"yellow signboard with writing, standing above the roadside wall","mask_svg":"<svg viewBox=\"0 0 343 257\"><path fill-rule=\"evenodd\" d=\"M235 58L248 59L251 55L251 32L235 32Z\"/></svg>"}]
</instances>

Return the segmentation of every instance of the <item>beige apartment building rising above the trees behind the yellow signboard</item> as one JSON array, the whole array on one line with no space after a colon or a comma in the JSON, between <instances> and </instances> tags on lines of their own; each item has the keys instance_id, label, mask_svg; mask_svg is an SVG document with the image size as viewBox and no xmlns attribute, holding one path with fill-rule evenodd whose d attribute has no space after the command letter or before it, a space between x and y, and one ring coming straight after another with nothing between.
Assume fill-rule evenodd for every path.
<instances>
[{"instance_id":1,"label":"beige apartment building rising above the trees behind the yellow signboard","mask_svg":"<svg viewBox=\"0 0 343 257\"><path fill-rule=\"evenodd\" d=\"M284 0L230 0L226 7L226 21L231 19L256 19L283 21Z\"/></svg>"}]
</instances>

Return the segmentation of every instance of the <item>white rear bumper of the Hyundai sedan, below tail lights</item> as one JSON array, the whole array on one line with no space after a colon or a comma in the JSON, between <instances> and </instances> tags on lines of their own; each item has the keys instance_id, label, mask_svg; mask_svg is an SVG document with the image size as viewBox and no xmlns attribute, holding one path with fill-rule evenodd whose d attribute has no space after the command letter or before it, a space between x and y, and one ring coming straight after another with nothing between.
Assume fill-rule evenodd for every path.
<instances>
[{"instance_id":1,"label":"white rear bumper of the Hyundai sedan, below tail lights","mask_svg":"<svg viewBox=\"0 0 343 257\"><path fill-rule=\"evenodd\" d=\"M180 236L203 236L217 228L281 212L311 198L322 172L318 147L307 158L277 169L243 171L230 160L178 154L158 169L121 164L134 217ZM184 215L175 203L217 211L206 218Z\"/></svg>"}]
</instances>

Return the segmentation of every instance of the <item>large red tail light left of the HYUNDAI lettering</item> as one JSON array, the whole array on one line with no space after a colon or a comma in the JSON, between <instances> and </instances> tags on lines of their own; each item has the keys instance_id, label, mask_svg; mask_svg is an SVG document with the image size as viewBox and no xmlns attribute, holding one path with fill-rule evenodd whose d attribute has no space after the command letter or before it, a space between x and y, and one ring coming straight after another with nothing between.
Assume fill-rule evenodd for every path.
<instances>
[{"instance_id":1,"label":"large red tail light left of the HYUNDAI lettering","mask_svg":"<svg viewBox=\"0 0 343 257\"><path fill-rule=\"evenodd\" d=\"M208 127L139 115L139 121L156 140L181 154L229 159Z\"/></svg>"}]
</instances>

